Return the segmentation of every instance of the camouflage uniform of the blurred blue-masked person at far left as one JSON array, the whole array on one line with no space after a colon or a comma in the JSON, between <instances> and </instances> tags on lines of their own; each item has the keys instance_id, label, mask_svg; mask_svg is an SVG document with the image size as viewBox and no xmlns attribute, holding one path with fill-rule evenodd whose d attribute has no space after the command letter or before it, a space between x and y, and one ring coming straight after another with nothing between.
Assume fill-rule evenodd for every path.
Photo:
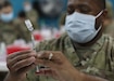
<instances>
[{"instance_id":1,"label":"camouflage uniform of the blurred blue-masked person at far left","mask_svg":"<svg viewBox=\"0 0 114 81\"><path fill-rule=\"evenodd\" d=\"M17 32L14 29L13 23L10 24L0 23L0 42L11 44L17 38L16 36Z\"/></svg>"}]
</instances>

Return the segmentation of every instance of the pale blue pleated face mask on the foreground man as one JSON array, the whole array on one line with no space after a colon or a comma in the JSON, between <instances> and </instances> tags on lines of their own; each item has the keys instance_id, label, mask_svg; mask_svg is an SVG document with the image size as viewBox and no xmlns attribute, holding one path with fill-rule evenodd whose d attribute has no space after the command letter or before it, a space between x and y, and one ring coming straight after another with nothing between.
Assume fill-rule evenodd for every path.
<instances>
[{"instance_id":1,"label":"pale blue pleated face mask on the foreground man","mask_svg":"<svg viewBox=\"0 0 114 81\"><path fill-rule=\"evenodd\" d=\"M87 43L91 41L101 27L96 30L96 18L98 18L103 11L97 16L81 14L74 12L72 15L66 16L65 30L69 38L77 43Z\"/></svg>"}]
</instances>

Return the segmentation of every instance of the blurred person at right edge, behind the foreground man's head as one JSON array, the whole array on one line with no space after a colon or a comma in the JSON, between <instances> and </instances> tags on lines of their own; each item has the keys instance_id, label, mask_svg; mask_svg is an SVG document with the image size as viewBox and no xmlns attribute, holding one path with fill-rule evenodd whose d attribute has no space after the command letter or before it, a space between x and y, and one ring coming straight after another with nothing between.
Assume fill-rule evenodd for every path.
<instances>
[{"instance_id":1,"label":"blurred person at right edge, behind the foreground man's head","mask_svg":"<svg viewBox=\"0 0 114 81\"><path fill-rule=\"evenodd\" d=\"M110 35L114 38L114 11L113 11L113 4L110 0L106 0L106 9L107 9L107 16L104 22L104 33Z\"/></svg>"}]
</instances>

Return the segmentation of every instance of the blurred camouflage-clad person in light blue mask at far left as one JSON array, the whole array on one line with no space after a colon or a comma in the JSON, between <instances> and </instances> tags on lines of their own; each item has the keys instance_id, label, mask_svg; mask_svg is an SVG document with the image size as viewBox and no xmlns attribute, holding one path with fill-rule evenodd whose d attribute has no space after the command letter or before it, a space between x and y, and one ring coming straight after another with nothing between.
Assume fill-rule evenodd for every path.
<instances>
[{"instance_id":1,"label":"blurred camouflage-clad person in light blue mask at far left","mask_svg":"<svg viewBox=\"0 0 114 81\"><path fill-rule=\"evenodd\" d=\"M14 39L16 38L13 30L13 8L11 3L8 1L2 2L2 9L1 9L1 23L0 23L0 42L5 42L7 44L12 43ZM10 39L9 39L10 36Z\"/></svg>"}]
</instances>

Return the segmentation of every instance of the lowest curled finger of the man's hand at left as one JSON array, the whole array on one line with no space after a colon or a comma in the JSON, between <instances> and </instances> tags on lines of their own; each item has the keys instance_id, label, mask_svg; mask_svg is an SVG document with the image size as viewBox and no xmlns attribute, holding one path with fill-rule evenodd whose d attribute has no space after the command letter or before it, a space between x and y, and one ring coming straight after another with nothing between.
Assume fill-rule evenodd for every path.
<instances>
[{"instance_id":1,"label":"lowest curled finger of the man's hand at left","mask_svg":"<svg viewBox=\"0 0 114 81\"><path fill-rule=\"evenodd\" d=\"M12 69L14 69L15 71L17 71L21 68L24 68L26 66L29 66L29 65L34 64L35 60L36 60L35 57L30 57L30 58L21 60L21 62L16 63L14 66L12 66Z\"/></svg>"}]
</instances>

